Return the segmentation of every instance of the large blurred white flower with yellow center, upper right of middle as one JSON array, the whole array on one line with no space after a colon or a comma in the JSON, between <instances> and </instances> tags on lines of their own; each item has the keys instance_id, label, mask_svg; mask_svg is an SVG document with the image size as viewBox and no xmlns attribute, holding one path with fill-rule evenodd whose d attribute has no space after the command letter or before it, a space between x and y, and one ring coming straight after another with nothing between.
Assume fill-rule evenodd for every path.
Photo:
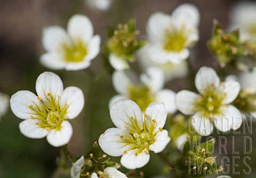
<instances>
[{"instance_id":1,"label":"large blurred white flower with yellow center, upper right of middle","mask_svg":"<svg viewBox=\"0 0 256 178\"><path fill-rule=\"evenodd\" d=\"M147 23L150 60L158 64L180 63L189 56L188 48L198 41L199 12L194 5L182 4L172 15L156 12Z\"/></svg>"}]
</instances>

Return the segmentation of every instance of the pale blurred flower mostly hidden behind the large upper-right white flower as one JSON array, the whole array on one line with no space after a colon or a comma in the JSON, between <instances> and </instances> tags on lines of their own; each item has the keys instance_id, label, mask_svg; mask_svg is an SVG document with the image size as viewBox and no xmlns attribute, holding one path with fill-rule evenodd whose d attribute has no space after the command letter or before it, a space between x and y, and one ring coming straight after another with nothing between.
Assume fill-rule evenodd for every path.
<instances>
[{"instance_id":1,"label":"pale blurred flower mostly hidden behind the large upper-right white flower","mask_svg":"<svg viewBox=\"0 0 256 178\"><path fill-rule=\"evenodd\" d=\"M181 61L178 64L167 62L165 64L159 64L150 60L148 50L150 45L147 44L140 48L136 53L137 59L141 67L146 70L149 67L158 67L164 72L166 82L178 77L185 77L188 73L188 64L186 60Z\"/></svg>"}]
</instances>

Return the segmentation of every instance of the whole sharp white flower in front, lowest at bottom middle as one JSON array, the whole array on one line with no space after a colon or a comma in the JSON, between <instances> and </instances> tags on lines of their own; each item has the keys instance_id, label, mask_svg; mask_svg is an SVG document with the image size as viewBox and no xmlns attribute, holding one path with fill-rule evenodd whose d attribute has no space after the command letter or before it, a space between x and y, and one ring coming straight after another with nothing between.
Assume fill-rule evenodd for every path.
<instances>
[{"instance_id":1,"label":"whole sharp white flower in front, lowest at bottom middle","mask_svg":"<svg viewBox=\"0 0 256 178\"><path fill-rule=\"evenodd\" d=\"M153 102L142 117L139 106L131 100L115 101L110 117L117 128L109 128L99 137L101 149L110 156L122 156L121 164L128 169L145 166L149 150L159 153L170 142L163 130L167 112L163 103Z\"/></svg>"}]
</instances>

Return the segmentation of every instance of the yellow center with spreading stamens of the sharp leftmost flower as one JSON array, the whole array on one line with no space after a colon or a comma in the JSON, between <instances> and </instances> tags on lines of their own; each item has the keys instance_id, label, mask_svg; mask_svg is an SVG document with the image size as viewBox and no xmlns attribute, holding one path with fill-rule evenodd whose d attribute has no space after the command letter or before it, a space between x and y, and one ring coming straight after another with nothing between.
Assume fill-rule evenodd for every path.
<instances>
[{"instance_id":1,"label":"yellow center with spreading stamens of the sharp leftmost flower","mask_svg":"<svg viewBox=\"0 0 256 178\"><path fill-rule=\"evenodd\" d=\"M34 108L33 105L30 105L29 109L34 110L36 112L36 117L30 116L30 118L37 119L37 125L39 125L42 128L46 128L47 130L60 130L63 120L67 120L65 115L67 114L68 106L66 104L64 108L60 108L59 100L58 104L55 104L55 99L53 99L50 93L47 94L47 97L47 100L49 100L51 103L50 106L46 106L46 104L43 103L41 98L37 96L37 99L41 102L45 110L42 111L39 109L38 106Z\"/></svg>"}]
</instances>

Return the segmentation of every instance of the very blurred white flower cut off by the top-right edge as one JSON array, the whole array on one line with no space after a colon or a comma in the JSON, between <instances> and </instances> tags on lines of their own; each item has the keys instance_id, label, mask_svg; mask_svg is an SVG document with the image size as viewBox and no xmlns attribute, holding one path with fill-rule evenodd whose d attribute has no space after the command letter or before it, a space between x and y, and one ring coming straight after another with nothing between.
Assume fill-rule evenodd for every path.
<instances>
[{"instance_id":1,"label":"very blurred white flower cut off by the top-right edge","mask_svg":"<svg viewBox=\"0 0 256 178\"><path fill-rule=\"evenodd\" d=\"M241 1L230 11L231 29L239 29L241 42L256 40L256 3Z\"/></svg>"}]
</instances>

